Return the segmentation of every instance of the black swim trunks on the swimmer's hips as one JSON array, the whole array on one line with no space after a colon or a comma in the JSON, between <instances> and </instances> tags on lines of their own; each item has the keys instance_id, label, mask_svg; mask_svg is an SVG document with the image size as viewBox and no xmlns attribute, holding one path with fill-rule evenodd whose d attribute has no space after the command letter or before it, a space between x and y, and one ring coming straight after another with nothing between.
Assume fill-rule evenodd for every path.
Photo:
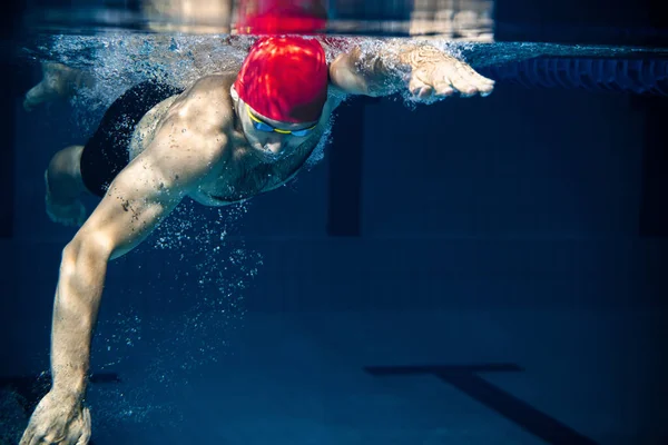
<instances>
[{"instance_id":1,"label":"black swim trunks on the swimmer's hips","mask_svg":"<svg viewBox=\"0 0 668 445\"><path fill-rule=\"evenodd\" d=\"M156 105L180 92L183 89L149 80L116 99L81 152L81 179L88 191L105 196L116 175L130 162L130 140L137 123Z\"/></svg>"}]
</instances>

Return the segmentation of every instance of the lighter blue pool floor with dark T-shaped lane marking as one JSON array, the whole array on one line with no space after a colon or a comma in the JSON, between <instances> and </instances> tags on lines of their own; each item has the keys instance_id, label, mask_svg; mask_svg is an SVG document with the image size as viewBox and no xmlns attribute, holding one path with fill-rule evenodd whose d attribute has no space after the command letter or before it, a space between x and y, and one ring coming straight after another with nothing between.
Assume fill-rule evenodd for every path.
<instances>
[{"instance_id":1,"label":"lighter blue pool floor with dark T-shaped lane marking","mask_svg":"<svg viewBox=\"0 0 668 445\"><path fill-rule=\"evenodd\" d=\"M90 389L94 439L666 443L650 387L665 375L652 363L660 323L591 310L247 314L217 362L175 363L164 379L138 342L107 369L122 382Z\"/></svg>"}]
</instances>

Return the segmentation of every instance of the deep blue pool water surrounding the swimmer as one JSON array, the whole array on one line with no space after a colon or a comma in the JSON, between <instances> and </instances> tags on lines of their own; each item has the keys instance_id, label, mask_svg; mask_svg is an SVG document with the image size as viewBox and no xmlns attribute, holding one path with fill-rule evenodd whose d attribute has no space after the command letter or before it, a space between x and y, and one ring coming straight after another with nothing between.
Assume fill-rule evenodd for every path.
<instances>
[{"instance_id":1,"label":"deep blue pool water surrounding the swimmer","mask_svg":"<svg viewBox=\"0 0 668 445\"><path fill-rule=\"evenodd\" d=\"M394 21L373 2L370 20L333 3L331 34L369 53L429 42L495 91L350 98L296 181L229 207L185 200L111 261L92 443L665 443L668 250L642 215L665 198L647 190L665 165L666 49L494 41L490 2L456 3L478 11L456 32L454 12L411 24L402 2ZM252 42L147 30L130 9L47 12L16 46L0 444L48 388L76 233L45 214L50 157L131 86L237 69ZM42 63L94 81L27 111Z\"/></svg>"}]
</instances>

